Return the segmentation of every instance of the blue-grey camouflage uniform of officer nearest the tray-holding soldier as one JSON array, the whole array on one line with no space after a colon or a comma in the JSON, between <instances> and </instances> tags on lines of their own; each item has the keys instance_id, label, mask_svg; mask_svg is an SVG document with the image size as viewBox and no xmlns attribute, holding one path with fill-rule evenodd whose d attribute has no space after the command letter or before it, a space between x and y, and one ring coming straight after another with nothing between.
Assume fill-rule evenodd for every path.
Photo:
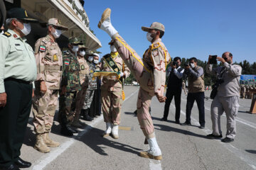
<instances>
[{"instance_id":1,"label":"blue-grey camouflage uniform of officer nearest the tray-holding soldier","mask_svg":"<svg viewBox=\"0 0 256 170\"><path fill-rule=\"evenodd\" d=\"M82 105L82 109L88 109L90 108L90 105L92 103L92 98L93 98L93 94L95 92L95 89L97 89L97 79L92 79L93 73L95 72L95 64L92 62L87 62L88 66L89 66L89 77L88 77L88 88L86 90L86 95L85 95L85 101Z\"/></svg>"}]
</instances>

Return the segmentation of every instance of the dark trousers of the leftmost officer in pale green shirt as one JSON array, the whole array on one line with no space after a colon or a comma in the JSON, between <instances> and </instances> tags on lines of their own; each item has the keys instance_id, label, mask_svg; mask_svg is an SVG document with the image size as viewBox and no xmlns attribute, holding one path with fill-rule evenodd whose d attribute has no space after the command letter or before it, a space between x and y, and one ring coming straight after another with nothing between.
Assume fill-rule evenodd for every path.
<instances>
[{"instance_id":1,"label":"dark trousers of the leftmost officer in pale green shirt","mask_svg":"<svg viewBox=\"0 0 256 170\"><path fill-rule=\"evenodd\" d=\"M6 106L0 108L0 166L9 166L21 155L20 149L31 112L32 84L4 81Z\"/></svg>"}]
</instances>

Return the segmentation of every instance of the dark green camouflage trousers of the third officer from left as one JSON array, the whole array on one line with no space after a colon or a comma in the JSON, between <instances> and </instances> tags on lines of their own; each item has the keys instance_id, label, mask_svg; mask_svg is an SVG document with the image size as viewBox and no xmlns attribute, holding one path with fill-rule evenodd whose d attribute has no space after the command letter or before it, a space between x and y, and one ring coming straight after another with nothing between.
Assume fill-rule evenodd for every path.
<instances>
[{"instance_id":1,"label":"dark green camouflage trousers of the third officer from left","mask_svg":"<svg viewBox=\"0 0 256 170\"><path fill-rule=\"evenodd\" d=\"M77 91L71 91L60 95L59 120L61 124L70 125L73 123L75 118L75 98L77 93Z\"/></svg>"}]
</instances>

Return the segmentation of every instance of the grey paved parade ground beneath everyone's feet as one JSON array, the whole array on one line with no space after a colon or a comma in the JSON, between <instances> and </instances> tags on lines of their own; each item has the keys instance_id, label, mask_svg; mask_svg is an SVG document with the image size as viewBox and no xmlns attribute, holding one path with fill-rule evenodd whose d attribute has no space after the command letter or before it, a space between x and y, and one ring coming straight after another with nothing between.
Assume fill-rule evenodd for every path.
<instances>
[{"instance_id":1,"label":"grey paved parade ground beneath everyone's feet","mask_svg":"<svg viewBox=\"0 0 256 170\"><path fill-rule=\"evenodd\" d=\"M50 137L61 143L60 147L51 148L43 154L33 149L36 137L33 132L31 114L26 132L26 139L21 148L21 158L31 162L31 169L256 169L256 114L250 114L251 100L240 99L237 117L237 136L231 143L220 140L208 140L211 133L210 103L205 102L206 129L198 128L198 108L194 104L191 113L192 126L174 123L174 100L171 103L167 122L161 121L164 103L156 97L151 102L151 115L154 122L156 140L161 148L163 159L156 161L145 159L137 154L149 149L144 145L144 135L134 115L137 103L138 86L125 86L126 99L122 105L119 139L101 137L105 130L102 115L87 126L78 129L74 137L60 135L60 125L54 122ZM210 92L206 92L210 96ZM181 123L185 121L186 96L181 97ZM56 111L58 114L58 111ZM55 116L57 120L57 116ZM225 113L221 119L223 137L225 137Z\"/></svg>"}]
</instances>

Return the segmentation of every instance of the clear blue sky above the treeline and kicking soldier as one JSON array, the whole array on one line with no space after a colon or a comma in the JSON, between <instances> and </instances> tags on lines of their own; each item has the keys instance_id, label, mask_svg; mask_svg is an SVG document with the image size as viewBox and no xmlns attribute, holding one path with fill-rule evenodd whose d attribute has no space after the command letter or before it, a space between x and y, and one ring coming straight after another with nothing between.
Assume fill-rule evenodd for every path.
<instances>
[{"instance_id":1,"label":"clear blue sky above the treeline and kicking soldier","mask_svg":"<svg viewBox=\"0 0 256 170\"><path fill-rule=\"evenodd\" d=\"M165 26L162 40L171 57L204 61L230 51L235 62L256 62L255 0L85 1L90 28L102 43L101 57L110 52L110 37L97 28L107 7L114 28L141 57L150 45L141 27L157 21Z\"/></svg>"}]
</instances>

